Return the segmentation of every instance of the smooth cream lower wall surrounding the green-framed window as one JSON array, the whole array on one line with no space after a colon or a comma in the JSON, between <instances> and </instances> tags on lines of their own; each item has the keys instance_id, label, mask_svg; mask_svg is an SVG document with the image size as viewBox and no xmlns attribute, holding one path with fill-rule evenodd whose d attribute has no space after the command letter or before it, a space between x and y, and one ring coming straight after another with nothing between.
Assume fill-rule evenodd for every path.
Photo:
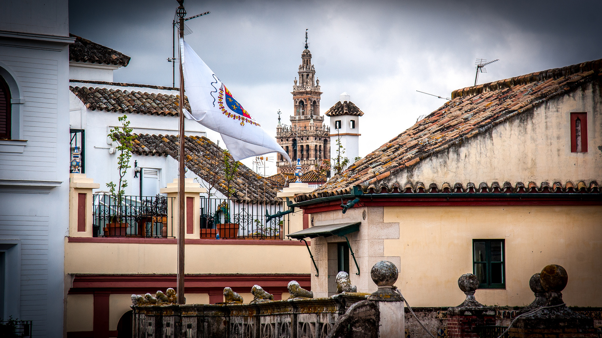
<instances>
[{"instance_id":1,"label":"smooth cream lower wall surrounding the green-framed window","mask_svg":"<svg viewBox=\"0 0 602 338\"><path fill-rule=\"evenodd\" d=\"M472 273L472 240L506 240L506 289L479 289L486 305L533 301L529 278L548 264L568 272L569 306L602 306L601 206L385 207L400 239L385 239L385 256L400 256L396 285L412 306L456 306L458 277Z\"/></svg>"}]
</instances>

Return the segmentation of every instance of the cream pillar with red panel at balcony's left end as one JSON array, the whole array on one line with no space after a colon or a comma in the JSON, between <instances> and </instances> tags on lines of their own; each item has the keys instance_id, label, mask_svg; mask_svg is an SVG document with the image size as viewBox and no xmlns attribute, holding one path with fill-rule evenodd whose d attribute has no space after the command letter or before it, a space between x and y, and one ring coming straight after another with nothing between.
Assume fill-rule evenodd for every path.
<instances>
[{"instance_id":1,"label":"cream pillar with red panel at balcony's left end","mask_svg":"<svg viewBox=\"0 0 602 338\"><path fill-rule=\"evenodd\" d=\"M92 189L101 185L85 174L69 174L69 236L92 237Z\"/></svg>"}]
</instances>

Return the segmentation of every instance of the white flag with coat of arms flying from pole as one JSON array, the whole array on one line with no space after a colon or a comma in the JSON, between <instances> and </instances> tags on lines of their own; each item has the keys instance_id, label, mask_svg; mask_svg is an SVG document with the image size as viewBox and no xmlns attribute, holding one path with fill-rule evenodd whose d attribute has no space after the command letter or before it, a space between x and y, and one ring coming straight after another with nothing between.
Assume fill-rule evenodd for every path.
<instances>
[{"instance_id":1,"label":"white flag with coat of arms flying from pole","mask_svg":"<svg viewBox=\"0 0 602 338\"><path fill-rule=\"evenodd\" d=\"M180 38L180 52L185 95L191 110L185 113L186 117L222 134L226 148L235 161L278 152L291 162L276 138L268 135L243 109L183 38Z\"/></svg>"}]
</instances>

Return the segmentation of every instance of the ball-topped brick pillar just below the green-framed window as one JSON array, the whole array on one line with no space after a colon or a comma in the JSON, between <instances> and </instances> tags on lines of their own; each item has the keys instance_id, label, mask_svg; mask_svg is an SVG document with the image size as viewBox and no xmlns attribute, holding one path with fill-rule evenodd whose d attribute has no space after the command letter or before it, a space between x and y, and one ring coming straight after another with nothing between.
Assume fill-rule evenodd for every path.
<instances>
[{"instance_id":1,"label":"ball-topped brick pillar just below the green-framed window","mask_svg":"<svg viewBox=\"0 0 602 338\"><path fill-rule=\"evenodd\" d=\"M479 288L479 279L473 274L458 278L458 286L466 295L464 303L447 309L448 338L479 338L477 327L495 325L495 309L486 307L474 298Z\"/></svg>"}]
</instances>

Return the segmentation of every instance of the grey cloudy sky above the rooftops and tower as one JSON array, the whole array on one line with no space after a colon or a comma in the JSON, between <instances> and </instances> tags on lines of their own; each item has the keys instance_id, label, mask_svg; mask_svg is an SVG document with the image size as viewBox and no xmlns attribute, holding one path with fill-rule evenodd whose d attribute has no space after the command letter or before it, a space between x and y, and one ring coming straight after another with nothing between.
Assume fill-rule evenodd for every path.
<instances>
[{"instance_id":1,"label":"grey cloudy sky above the rooftops and tower","mask_svg":"<svg viewBox=\"0 0 602 338\"><path fill-rule=\"evenodd\" d=\"M114 81L172 85L175 0L70 1L70 32L129 55ZM185 39L275 134L293 114L309 29L321 113L347 91L365 115L360 156L474 84L476 58L500 59L479 83L602 58L599 1L185 1ZM176 86L178 85L176 79ZM210 138L216 138L210 134ZM243 161L250 165L252 160ZM268 168L267 174L275 173Z\"/></svg>"}]
</instances>

